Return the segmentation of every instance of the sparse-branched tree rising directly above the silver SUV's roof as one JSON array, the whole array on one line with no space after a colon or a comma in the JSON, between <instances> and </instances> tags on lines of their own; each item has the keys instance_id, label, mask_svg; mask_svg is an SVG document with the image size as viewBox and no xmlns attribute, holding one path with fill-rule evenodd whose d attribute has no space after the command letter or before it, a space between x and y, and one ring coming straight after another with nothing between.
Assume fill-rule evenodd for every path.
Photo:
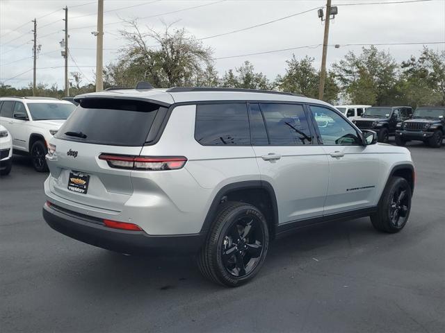
<instances>
[{"instance_id":1,"label":"sparse-branched tree rising directly above the silver SUV's roof","mask_svg":"<svg viewBox=\"0 0 445 333\"><path fill-rule=\"evenodd\" d=\"M185 28L165 25L161 32L152 28L143 32L136 20L127 23L133 31L120 31L127 46L118 62L106 67L106 80L111 85L133 87L140 80L155 87L193 85L203 68L211 65L211 49Z\"/></svg>"}]
</instances>

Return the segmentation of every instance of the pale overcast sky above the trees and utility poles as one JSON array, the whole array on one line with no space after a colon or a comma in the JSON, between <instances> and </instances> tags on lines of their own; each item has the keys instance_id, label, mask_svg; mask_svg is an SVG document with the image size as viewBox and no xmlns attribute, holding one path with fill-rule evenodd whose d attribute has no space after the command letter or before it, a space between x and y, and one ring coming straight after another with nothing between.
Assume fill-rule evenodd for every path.
<instances>
[{"instance_id":1,"label":"pale overcast sky above the trees and utility poles","mask_svg":"<svg viewBox=\"0 0 445 333\"><path fill-rule=\"evenodd\" d=\"M349 50L359 52L362 47L343 46L344 44L445 42L445 0L385 3L394 1L407 0L332 1L333 6L339 5L339 15L330 26L329 44L342 46L339 49L328 49L327 64L340 60ZM375 2L385 4L364 4ZM345 6L354 3L359 3L359 6ZM343 6L340 6L341 4ZM118 31L125 28L122 19L140 17L141 26L154 29L162 28L162 22L176 22L176 27L185 27L195 37L202 38L270 22L323 5L325 0L105 0L104 65L118 58L118 49L125 43L118 35ZM57 83L59 89L63 89L64 60L60 56L59 42L64 37L62 19L65 13L62 8L65 6L68 6L69 10L69 46L72 53L72 58L69 59L69 65L72 67L69 71L83 72L83 83L94 80L96 38L91 32L97 30L97 1L0 0L1 82L6 81L8 85L22 87L32 81L31 19L36 17L38 44L42 45L38 57L37 80L48 85ZM186 8L190 9L184 10ZM173 12L176 10L183 11ZM314 57L315 65L320 66L322 48L317 45L323 43L323 24L315 9L257 28L209 38L203 42L211 46L214 58L311 46L215 60L216 69L220 74L238 67L245 60L250 60L257 71L262 71L273 79L277 74L284 73L285 61L291 58L292 53L295 53L297 58L306 55ZM422 47L421 44L378 46L379 49L391 52L398 61L405 60L410 55L418 56ZM445 44L430 47L442 51ZM39 69L41 67L52 68ZM27 72L22 74L25 71ZM17 76L18 74L22 75ZM14 76L17 77L13 78Z\"/></svg>"}]
</instances>

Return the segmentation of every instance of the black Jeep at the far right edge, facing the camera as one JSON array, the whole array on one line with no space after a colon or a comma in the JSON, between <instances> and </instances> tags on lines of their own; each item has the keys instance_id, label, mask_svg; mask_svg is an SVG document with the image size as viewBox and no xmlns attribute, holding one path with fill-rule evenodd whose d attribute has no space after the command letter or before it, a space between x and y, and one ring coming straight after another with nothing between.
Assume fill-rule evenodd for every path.
<instances>
[{"instance_id":1,"label":"black Jeep at the far right edge, facing the camera","mask_svg":"<svg viewBox=\"0 0 445 333\"><path fill-rule=\"evenodd\" d=\"M416 108L412 119L397 124L396 144L404 146L407 141L419 140L439 148L444 135L445 106Z\"/></svg>"}]
</instances>

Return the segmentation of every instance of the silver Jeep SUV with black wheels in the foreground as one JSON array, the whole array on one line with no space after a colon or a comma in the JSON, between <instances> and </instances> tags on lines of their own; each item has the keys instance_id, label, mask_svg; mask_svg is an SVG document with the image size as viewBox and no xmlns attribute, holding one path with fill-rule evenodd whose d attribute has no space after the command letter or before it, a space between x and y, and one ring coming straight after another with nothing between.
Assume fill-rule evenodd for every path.
<instances>
[{"instance_id":1,"label":"silver Jeep SUV with black wheels in the foreground","mask_svg":"<svg viewBox=\"0 0 445 333\"><path fill-rule=\"evenodd\" d=\"M371 216L398 232L410 214L410 152L376 144L323 101L197 87L76 101L49 142L43 216L79 241L195 253L207 278L238 286L298 228Z\"/></svg>"}]
</instances>

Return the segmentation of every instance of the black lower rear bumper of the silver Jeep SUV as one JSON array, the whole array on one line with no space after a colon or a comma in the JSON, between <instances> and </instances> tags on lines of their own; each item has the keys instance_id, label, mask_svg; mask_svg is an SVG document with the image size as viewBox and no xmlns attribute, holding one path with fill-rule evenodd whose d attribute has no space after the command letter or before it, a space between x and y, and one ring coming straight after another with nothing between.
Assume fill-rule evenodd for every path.
<instances>
[{"instance_id":1,"label":"black lower rear bumper of the silver Jeep SUV","mask_svg":"<svg viewBox=\"0 0 445 333\"><path fill-rule=\"evenodd\" d=\"M74 216L46 203L42 213L48 225L61 234L120 253L192 254L197 253L205 240L205 234L150 236L143 231L108 228L97 219Z\"/></svg>"}]
</instances>

